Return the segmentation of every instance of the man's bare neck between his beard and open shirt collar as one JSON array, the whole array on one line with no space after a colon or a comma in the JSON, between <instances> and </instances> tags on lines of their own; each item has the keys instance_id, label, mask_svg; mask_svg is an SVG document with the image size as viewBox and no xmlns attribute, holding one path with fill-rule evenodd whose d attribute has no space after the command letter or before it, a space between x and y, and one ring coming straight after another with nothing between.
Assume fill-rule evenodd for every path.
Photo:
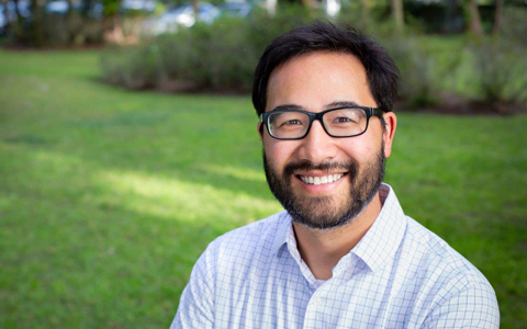
<instances>
[{"instance_id":1,"label":"man's bare neck between his beard and open shirt collar","mask_svg":"<svg viewBox=\"0 0 527 329\"><path fill-rule=\"evenodd\" d=\"M327 280L333 276L333 268L366 235L381 207L377 192L359 216L343 227L319 230L293 223L299 252L316 279Z\"/></svg>"}]
</instances>

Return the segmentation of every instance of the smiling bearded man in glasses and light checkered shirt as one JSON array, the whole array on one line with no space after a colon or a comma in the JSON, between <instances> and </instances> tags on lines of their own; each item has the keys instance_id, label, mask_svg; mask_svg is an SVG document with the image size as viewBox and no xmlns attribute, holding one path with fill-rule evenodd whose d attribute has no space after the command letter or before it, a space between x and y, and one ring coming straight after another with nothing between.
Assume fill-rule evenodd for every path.
<instances>
[{"instance_id":1,"label":"smiling bearded man in glasses and light checkered shirt","mask_svg":"<svg viewBox=\"0 0 527 329\"><path fill-rule=\"evenodd\" d=\"M330 24L268 46L253 102L285 212L208 247L171 328L498 328L485 277L381 183L397 75L381 46Z\"/></svg>"}]
</instances>

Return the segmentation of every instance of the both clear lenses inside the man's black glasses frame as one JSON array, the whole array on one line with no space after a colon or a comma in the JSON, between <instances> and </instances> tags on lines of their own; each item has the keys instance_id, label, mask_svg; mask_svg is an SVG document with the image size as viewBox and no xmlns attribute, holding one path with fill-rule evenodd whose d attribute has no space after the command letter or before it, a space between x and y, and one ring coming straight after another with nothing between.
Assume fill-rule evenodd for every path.
<instances>
[{"instance_id":1,"label":"both clear lenses inside the man's black glasses frame","mask_svg":"<svg viewBox=\"0 0 527 329\"><path fill-rule=\"evenodd\" d=\"M310 115L302 112L277 112L269 115L269 131L278 138L303 137L310 127ZM368 118L362 109L338 109L326 112L322 121L332 136L347 137L366 131Z\"/></svg>"}]
</instances>

